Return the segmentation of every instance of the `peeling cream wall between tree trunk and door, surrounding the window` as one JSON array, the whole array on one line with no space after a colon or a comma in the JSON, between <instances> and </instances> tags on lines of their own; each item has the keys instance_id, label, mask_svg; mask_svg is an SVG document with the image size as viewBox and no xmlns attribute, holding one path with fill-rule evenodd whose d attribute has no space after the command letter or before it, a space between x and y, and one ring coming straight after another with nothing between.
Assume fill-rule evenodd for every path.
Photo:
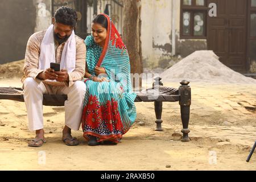
<instances>
[{"instance_id":1,"label":"peeling cream wall between tree trunk and door, surrounding the window","mask_svg":"<svg viewBox=\"0 0 256 182\"><path fill-rule=\"evenodd\" d=\"M185 57L207 49L205 39L180 39L180 1L174 0L176 56ZM142 55L144 67L162 67L162 60L171 59L172 1L142 0Z\"/></svg>"}]
</instances>

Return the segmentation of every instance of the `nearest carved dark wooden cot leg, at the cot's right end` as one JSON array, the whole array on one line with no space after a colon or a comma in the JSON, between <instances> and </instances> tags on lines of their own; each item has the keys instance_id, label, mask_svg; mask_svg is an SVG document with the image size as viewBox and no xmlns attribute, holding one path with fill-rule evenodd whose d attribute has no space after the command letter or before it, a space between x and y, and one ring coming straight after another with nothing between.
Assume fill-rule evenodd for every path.
<instances>
[{"instance_id":1,"label":"nearest carved dark wooden cot leg, at the cot's right end","mask_svg":"<svg viewBox=\"0 0 256 182\"><path fill-rule=\"evenodd\" d=\"M183 80L180 82L181 86L179 87L179 95L180 95L180 113L181 113L181 121L183 125L183 129L181 132L183 133L182 142L189 142L190 139L188 137L189 129L189 113L190 113L190 105L191 105L191 88L188 85L189 81Z\"/></svg>"}]
</instances>

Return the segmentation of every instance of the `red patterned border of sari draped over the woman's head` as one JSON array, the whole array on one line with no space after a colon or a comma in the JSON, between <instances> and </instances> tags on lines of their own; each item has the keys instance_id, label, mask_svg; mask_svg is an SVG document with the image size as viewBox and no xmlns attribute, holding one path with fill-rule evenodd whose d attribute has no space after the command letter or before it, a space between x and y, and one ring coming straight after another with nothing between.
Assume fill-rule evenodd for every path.
<instances>
[{"instance_id":1,"label":"red patterned border of sari draped over the woman's head","mask_svg":"<svg viewBox=\"0 0 256 182\"><path fill-rule=\"evenodd\" d=\"M119 35L117 28L115 28L112 20L109 18L108 15L106 15L104 13L102 13L101 15L104 15L106 17L106 19L108 19L108 30L107 30L105 46L102 50L100 59L98 59L98 63L96 64L98 67L101 66L102 61L105 58L106 52L108 51L109 44L111 41L112 41L112 46L114 46L114 44L115 44L116 48L126 49L125 44L123 43L123 40L122 40L121 36Z\"/></svg>"}]
</instances>

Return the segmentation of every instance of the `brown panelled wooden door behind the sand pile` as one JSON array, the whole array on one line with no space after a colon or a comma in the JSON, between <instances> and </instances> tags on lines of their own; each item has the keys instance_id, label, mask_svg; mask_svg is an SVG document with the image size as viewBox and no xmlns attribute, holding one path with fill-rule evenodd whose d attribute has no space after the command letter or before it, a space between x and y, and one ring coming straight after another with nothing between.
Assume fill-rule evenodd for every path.
<instances>
[{"instance_id":1,"label":"brown panelled wooden door behind the sand pile","mask_svg":"<svg viewBox=\"0 0 256 182\"><path fill-rule=\"evenodd\" d=\"M216 3L217 17L208 16L207 43L226 66L246 71L247 0L208 0Z\"/></svg>"}]
</instances>

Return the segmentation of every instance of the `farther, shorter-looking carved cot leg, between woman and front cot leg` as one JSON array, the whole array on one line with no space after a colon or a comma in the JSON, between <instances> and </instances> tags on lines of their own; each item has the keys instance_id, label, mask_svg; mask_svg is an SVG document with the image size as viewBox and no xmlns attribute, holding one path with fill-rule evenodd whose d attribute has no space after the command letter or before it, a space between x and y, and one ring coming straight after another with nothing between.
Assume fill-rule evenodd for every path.
<instances>
[{"instance_id":1,"label":"farther, shorter-looking carved cot leg, between woman and front cot leg","mask_svg":"<svg viewBox=\"0 0 256 182\"><path fill-rule=\"evenodd\" d=\"M155 86L163 86L163 83L162 81L162 78L160 77L156 77L154 78L155 82L153 83L153 88L155 88ZM155 101L154 103L155 105L155 116L156 116L156 129L155 131L163 131L162 129L162 122L163 120L161 119L162 117L162 110L163 110L163 102L158 102L158 101Z\"/></svg>"}]
</instances>

